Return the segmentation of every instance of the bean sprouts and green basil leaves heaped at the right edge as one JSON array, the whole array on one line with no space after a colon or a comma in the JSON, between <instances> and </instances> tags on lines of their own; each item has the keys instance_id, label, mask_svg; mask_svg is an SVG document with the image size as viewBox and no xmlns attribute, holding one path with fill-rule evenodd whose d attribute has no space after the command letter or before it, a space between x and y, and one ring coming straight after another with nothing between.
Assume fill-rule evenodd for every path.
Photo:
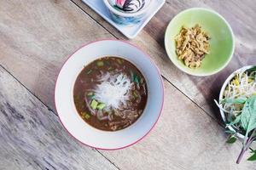
<instances>
[{"instance_id":1,"label":"bean sprouts and green basil leaves heaped at the right edge","mask_svg":"<svg viewBox=\"0 0 256 170\"><path fill-rule=\"evenodd\" d=\"M235 129L235 132L229 132L231 135L227 142L236 142L237 133L244 135L241 153L236 161L240 163L250 144L256 141L256 66L236 74L224 89L223 95L219 103L215 102L224 111L226 125ZM253 153L249 161L256 161L256 150Z\"/></svg>"}]
</instances>

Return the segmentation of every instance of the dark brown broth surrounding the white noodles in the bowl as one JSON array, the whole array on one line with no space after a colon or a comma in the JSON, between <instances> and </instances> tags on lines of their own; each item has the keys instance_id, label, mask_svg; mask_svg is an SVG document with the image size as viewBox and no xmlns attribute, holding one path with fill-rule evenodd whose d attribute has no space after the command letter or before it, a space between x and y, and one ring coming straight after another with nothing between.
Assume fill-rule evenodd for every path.
<instances>
[{"instance_id":1,"label":"dark brown broth surrounding the white noodles in the bowl","mask_svg":"<svg viewBox=\"0 0 256 170\"><path fill-rule=\"evenodd\" d=\"M111 74L125 74L134 84L134 89L131 90L128 107L126 106L118 111L110 111L112 112L113 119L111 121L101 121L97 116L93 115L92 111L96 113L100 111L105 116L109 115L109 111L106 112L104 109L92 110L90 104L93 100L93 93L91 92L99 84L97 78L107 72ZM101 130L116 131L130 126L142 115L147 103L148 91L145 78L135 65L132 65L125 59L103 57L86 65L83 71L79 73L73 88L73 98L76 109L85 122Z\"/></svg>"}]
</instances>

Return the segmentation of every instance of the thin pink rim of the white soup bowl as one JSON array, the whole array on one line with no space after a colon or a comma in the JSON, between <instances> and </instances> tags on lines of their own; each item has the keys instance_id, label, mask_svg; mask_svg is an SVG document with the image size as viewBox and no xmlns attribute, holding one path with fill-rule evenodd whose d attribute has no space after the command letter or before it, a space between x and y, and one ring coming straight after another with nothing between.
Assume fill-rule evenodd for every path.
<instances>
[{"instance_id":1,"label":"thin pink rim of the white soup bowl","mask_svg":"<svg viewBox=\"0 0 256 170\"><path fill-rule=\"evenodd\" d=\"M74 54L76 54L77 52L79 52L80 49L82 49L82 48L84 48L84 47L86 47L86 46L88 46L88 45L90 45L90 44L93 44L93 43L96 43L96 42L102 42L102 41L123 42L123 43L125 43L125 44L127 44L127 45L132 46L133 48L137 48L137 50L139 50L140 52L142 52L142 53L144 54L143 57L146 57L146 58L151 62L151 64L154 65L154 67L156 68L156 70L157 70L157 72L158 72L158 77L160 78L160 84L161 84L161 87L160 87L160 88L161 88L161 96L162 96L162 98L161 98L161 102L160 102L160 103L161 103L161 105L160 105L160 111L159 111L159 113L158 113L157 119L155 120L153 126L150 127L150 129L148 130L147 133L144 133L142 137L140 137L140 138L137 139L136 141L131 142L131 144L126 144L126 145L124 145L124 146L122 146L122 147L111 148L111 149L109 149L109 148L102 148L102 147L96 147L96 146L93 146L92 144L85 144L85 143L82 142L80 139L78 139L77 137L75 137L75 136L73 135L73 133L69 132L68 128L65 126L65 123L61 120L61 116L60 116L60 113L59 113L58 108L57 108L57 105L56 105L56 87L57 87L58 80L59 80L59 77L60 77L60 74L61 74L61 70L63 69L64 65L66 65L67 62L69 61L69 59L71 59ZM102 57L102 56L101 56L101 57ZM159 70L159 68L154 64L154 61L153 61L152 59L150 59L150 57L149 57L148 54L146 54L145 52L143 52L142 49L140 49L140 48L138 48L137 46L131 44L130 42L126 42L126 41L122 41L122 40L115 40L115 39L101 39L101 40L97 40L97 41L94 41L94 42L86 43L86 44L84 44L83 46L81 46L80 48L78 48L77 50L75 50L75 51L73 52L73 54L71 54L71 55L68 56L68 58L66 59L66 61L64 62L64 64L61 66L61 70L60 70L60 72L59 72L59 74L58 74L58 77L57 77L57 79L56 79L56 81L55 81L55 110L57 111L57 115L58 115L58 117L59 117L59 119L60 119L60 121L61 121L62 126L67 130L67 133L69 133L74 139L78 140L79 143L85 144L85 145L90 146L91 148L95 148L95 149L97 149L97 150L120 150L120 149L124 149L124 148L129 147L129 146L131 146L131 145L133 145L133 144L137 144L137 142L139 142L140 140L142 140L143 138L145 138L145 137L148 135L148 133L151 132L151 130L153 129L153 127L156 125L156 123L158 122L158 120L159 120L159 118L160 118L160 114L161 114L161 112L162 112L162 110L163 110L163 105L164 105L164 85L163 85L163 80L162 80L162 78L161 78L160 70ZM84 122L84 123L85 123L85 122ZM131 126L132 126L132 125L131 125Z\"/></svg>"}]
</instances>

